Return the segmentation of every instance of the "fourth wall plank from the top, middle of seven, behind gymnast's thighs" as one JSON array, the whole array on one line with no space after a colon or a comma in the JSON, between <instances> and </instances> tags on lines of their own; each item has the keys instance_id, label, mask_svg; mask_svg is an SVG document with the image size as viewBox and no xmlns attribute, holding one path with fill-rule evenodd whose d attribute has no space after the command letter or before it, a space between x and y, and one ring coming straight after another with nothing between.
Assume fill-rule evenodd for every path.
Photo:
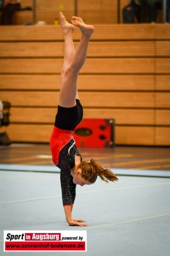
<instances>
[{"instance_id":1,"label":"fourth wall plank from the top, middle of seven, behind gymnast's thighs","mask_svg":"<svg viewBox=\"0 0 170 256\"><path fill-rule=\"evenodd\" d=\"M161 77L162 78L162 77ZM158 89L164 88L168 78L158 79ZM60 75L2 75L1 89L59 90ZM11 82L12 81L12 82ZM164 82L165 81L165 82ZM166 83L170 88L170 81ZM154 75L79 75L79 90L88 91L153 91Z\"/></svg>"}]
</instances>

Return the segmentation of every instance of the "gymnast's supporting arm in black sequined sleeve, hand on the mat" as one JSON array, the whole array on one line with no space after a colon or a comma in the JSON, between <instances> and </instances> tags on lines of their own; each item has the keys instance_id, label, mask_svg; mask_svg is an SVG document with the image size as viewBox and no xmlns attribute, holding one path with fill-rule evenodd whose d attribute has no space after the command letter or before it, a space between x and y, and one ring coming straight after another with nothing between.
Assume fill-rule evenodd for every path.
<instances>
[{"instance_id":1,"label":"gymnast's supporting arm in black sequined sleeve, hand on the mat","mask_svg":"<svg viewBox=\"0 0 170 256\"><path fill-rule=\"evenodd\" d=\"M71 175L71 168L69 161L63 159L59 162L60 164L60 182L62 187L62 199L64 212L66 215L66 221L70 226L87 226L79 222L85 222L84 220L75 220L72 218L72 209L74 200L76 197L76 184L73 183Z\"/></svg>"}]
</instances>

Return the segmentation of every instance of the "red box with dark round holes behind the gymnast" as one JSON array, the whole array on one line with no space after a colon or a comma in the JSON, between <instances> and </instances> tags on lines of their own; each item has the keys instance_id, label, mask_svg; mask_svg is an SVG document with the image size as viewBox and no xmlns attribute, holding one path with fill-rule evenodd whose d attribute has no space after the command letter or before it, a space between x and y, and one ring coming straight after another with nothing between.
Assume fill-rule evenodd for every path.
<instances>
[{"instance_id":1,"label":"red box with dark round holes behind the gymnast","mask_svg":"<svg viewBox=\"0 0 170 256\"><path fill-rule=\"evenodd\" d=\"M74 131L77 147L114 147L114 119L83 118Z\"/></svg>"}]
</instances>

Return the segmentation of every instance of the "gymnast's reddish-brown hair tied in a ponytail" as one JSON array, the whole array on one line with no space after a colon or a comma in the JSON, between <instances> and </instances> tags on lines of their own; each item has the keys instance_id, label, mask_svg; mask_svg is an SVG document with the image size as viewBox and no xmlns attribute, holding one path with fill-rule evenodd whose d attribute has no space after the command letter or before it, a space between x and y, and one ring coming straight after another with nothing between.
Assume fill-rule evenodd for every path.
<instances>
[{"instance_id":1,"label":"gymnast's reddish-brown hair tied in a ponytail","mask_svg":"<svg viewBox=\"0 0 170 256\"><path fill-rule=\"evenodd\" d=\"M103 181L118 181L116 175L110 169L101 167L101 162L95 159L82 161L79 165L81 175L87 181L94 183L99 176Z\"/></svg>"}]
</instances>

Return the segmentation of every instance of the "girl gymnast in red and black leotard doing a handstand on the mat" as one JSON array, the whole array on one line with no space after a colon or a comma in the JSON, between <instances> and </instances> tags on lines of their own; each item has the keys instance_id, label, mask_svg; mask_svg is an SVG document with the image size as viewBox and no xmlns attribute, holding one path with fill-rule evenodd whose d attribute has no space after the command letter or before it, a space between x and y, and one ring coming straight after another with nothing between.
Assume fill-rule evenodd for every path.
<instances>
[{"instance_id":1,"label":"girl gymnast in red and black leotard doing a handstand on the mat","mask_svg":"<svg viewBox=\"0 0 170 256\"><path fill-rule=\"evenodd\" d=\"M84 24L81 18L72 17L72 24L60 12L60 22L64 35L64 63L61 74L59 105L55 126L50 138L50 149L54 164L60 168L62 199L66 221L69 225L87 226L84 220L72 218L73 204L77 185L93 184L97 176L103 181L117 181L118 178L110 171L101 167L99 161L90 159L82 161L74 141L74 129L83 118L83 107L77 92L77 77L86 61L87 48L94 27ZM74 50L72 34L75 26L81 31L81 39Z\"/></svg>"}]
</instances>

